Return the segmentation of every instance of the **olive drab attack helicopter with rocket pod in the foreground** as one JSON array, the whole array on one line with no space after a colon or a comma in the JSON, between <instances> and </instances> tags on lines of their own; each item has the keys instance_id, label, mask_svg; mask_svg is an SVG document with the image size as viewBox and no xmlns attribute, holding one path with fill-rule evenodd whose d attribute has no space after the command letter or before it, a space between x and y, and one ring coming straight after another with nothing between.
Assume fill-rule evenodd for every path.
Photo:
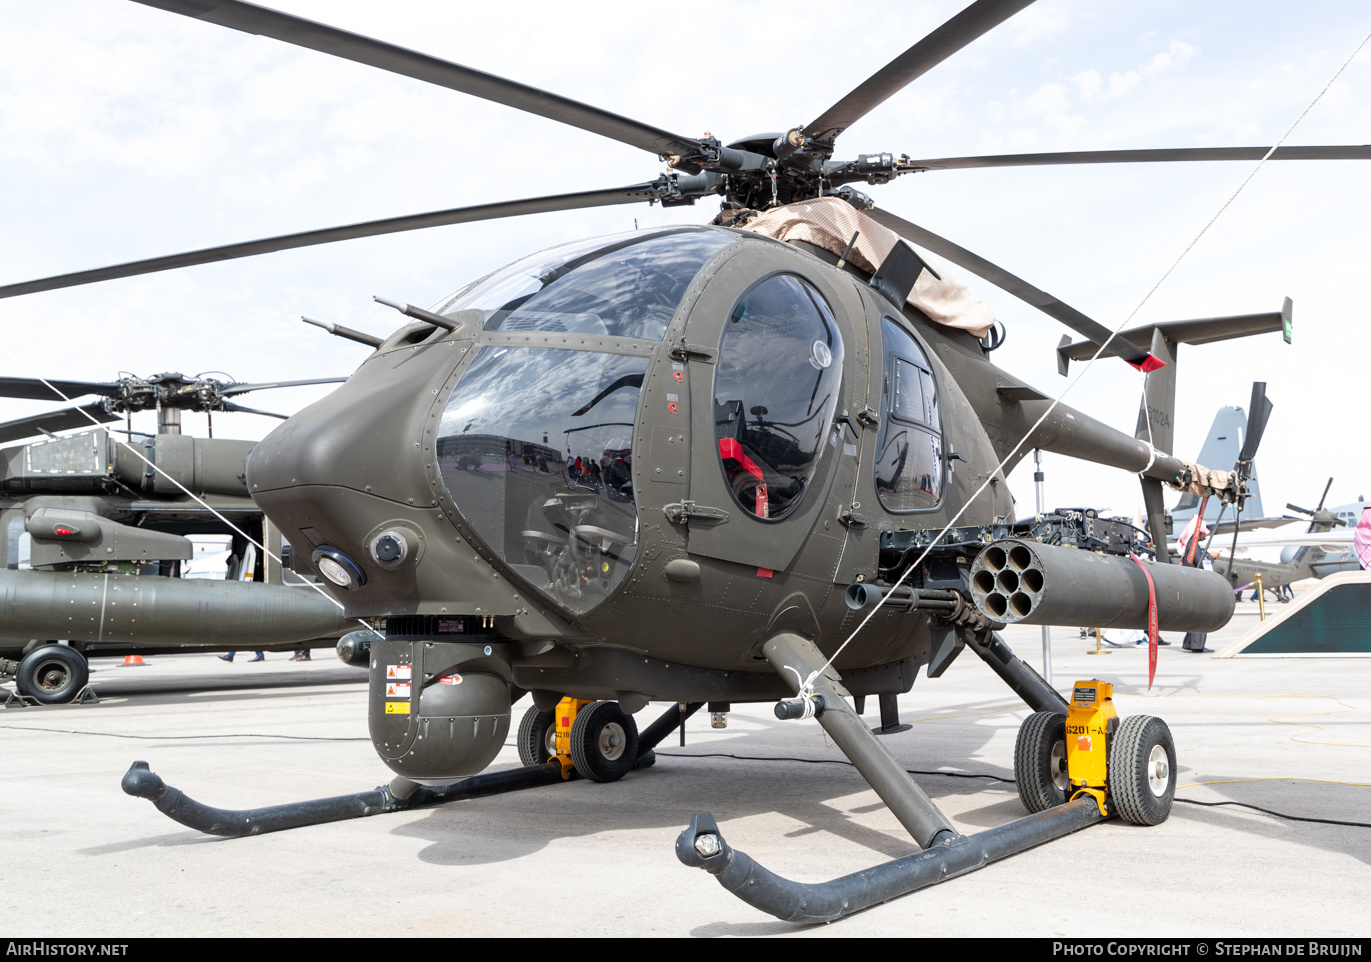
<instances>
[{"instance_id":1,"label":"olive drab attack helicopter with rocket pod in the foreground","mask_svg":"<svg viewBox=\"0 0 1371 962\"><path fill-rule=\"evenodd\" d=\"M1215 630L1224 580L1167 563L1161 485L1227 502L1243 467L1171 452L1175 356L1282 329L1279 311L1148 325L1097 321L916 223L854 184L1045 163L1261 159L1267 148L849 158L836 141L897 90L1031 0L978 0L803 126L688 137L491 74L230 0L143 0L502 103L638 147L640 184L435 211L0 288L0 296L417 227L611 204L720 197L714 223L566 244L480 278L373 348L325 403L254 451L252 497L348 615L372 621L370 730L396 778L373 792L225 813L147 763L125 791L219 835L559 782L613 781L705 704L817 718L924 850L821 885L757 865L696 815L679 858L781 918L825 921L1120 814L1157 824L1175 750L1156 718L1120 719L1105 682L1063 699L998 637L1006 624ZM1274 159L1367 158L1283 148ZM1023 297L1152 371L1138 436L990 360L999 333L913 247ZM1261 404L1270 412L1264 385ZM1260 437L1254 423L1253 433ZM1139 474L1146 532L1093 510L1015 521L1005 471L1039 447ZM1249 458L1250 462L1250 458ZM1141 555L1157 554L1156 562ZM860 629L860 630L858 630ZM861 719L920 669L969 648L1034 714L1016 748L1031 815L973 836ZM524 767L481 773L513 728ZM670 708L639 730L650 702ZM1072 737L1067 737L1067 730Z\"/></svg>"}]
</instances>

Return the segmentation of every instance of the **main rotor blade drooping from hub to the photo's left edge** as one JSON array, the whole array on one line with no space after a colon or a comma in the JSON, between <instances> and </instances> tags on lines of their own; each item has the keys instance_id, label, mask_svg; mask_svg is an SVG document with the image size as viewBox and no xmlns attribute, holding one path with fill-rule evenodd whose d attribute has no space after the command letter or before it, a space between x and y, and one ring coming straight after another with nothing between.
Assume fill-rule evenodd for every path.
<instances>
[{"instance_id":1,"label":"main rotor blade drooping from hub to the photo's left edge","mask_svg":"<svg viewBox=\"0 0 1371 962\"><path fill-rule=\"evenodd\" d=\"M112 281L119 277L154 274L159 270L210 264L218 260L251 258L256 254L289 251L298 247L315 247L318 244L332 244L335 241L354 240L358 237L393 234L402 230L441 227L450 223L470 223L473 221L494 221L496 218L518 217L521 214L543 214L547 211L570 211L585 207L610 207L613 204L646 203L654 196L651 190L648 190L651 184L640 184L638 186L616 188L613 190L585 190L583 193L559 193L550 197L505 200L495 204L477 204L476 207L454 207L451 210L432 211L429 214L410 214L407 217L392 217L384 221L351 223L343 227L325 227L322 230L306 230L299 234L281 234L280 237L267 237L265 240L247 241L243 244L208 247L203 251L173 254L165 258L149 258L147 260L132 260L126 264L115 264L112 267L97 267L95 270L82 270L74 274L60 274L58 277L44 277L37 281L10 284L0 286L0 297L16 297L19 295L37 293L40 291L56 291L59 288L75 288L82 284Z\"/></svg>"}]
</instances>

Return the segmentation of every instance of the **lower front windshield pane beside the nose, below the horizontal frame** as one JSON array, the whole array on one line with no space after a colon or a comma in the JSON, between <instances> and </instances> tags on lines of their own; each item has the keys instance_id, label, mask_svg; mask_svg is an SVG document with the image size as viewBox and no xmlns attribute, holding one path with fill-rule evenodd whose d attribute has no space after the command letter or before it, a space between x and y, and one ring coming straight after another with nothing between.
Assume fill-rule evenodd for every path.
<instances>
[{"instance_id":1,"label":"lower front windshield pane beside the nose, below the horizontal frame","mask_svg":"<svg viewBox=\"0 0 1371 962\"><path fill-rule=\"evenodd\" d=\"M638 554L631 437L647 365L487 347L439 422L457 510L520 577L577 614L605 600Z\"/></svg>"}]
</instances>

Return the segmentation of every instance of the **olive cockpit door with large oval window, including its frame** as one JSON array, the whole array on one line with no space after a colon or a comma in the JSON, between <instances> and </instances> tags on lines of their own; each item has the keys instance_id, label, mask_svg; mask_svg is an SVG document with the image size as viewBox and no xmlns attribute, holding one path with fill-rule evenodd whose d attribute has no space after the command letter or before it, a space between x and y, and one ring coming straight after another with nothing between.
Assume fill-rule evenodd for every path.
<instances>
[{"instance_id":1,"label":"olive cockpit door with large oval window, including its frame","mask_svg":"<svg viewBox=\"0 0 1371 962\"><path fill-rule=\"evenodd\" d=\"M703 289L683 351L691 554L788 570L816 528L838 523L835 417L850 407L854 321L865 323L847 278L775 243L744 243Z\"/></svg>"}]
</instances>

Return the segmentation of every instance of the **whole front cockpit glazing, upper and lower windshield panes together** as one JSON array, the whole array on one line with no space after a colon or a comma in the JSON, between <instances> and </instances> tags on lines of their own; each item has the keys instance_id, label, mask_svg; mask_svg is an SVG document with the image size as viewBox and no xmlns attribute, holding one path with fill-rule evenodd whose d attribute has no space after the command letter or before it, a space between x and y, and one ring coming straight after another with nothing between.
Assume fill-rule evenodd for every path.
<instances>
[{"instance_id":1,"label":"whole front cockpit glazing, upper and lower windshield panes together","mask_svg":"<svg viewBox=\"0 0 1371 962\"><path fill-rule=\"evenodd\" d=\"M695 275L736 238L633 232L524 258L435 310L480 310L487 332L661 341ZM457 510L539 592L577 614L605 600L638 555L633 429L643 344L477 347L443 411L437 466ZM596 343L603 347L603 341Z\"/></svg>"}]
</instances>

